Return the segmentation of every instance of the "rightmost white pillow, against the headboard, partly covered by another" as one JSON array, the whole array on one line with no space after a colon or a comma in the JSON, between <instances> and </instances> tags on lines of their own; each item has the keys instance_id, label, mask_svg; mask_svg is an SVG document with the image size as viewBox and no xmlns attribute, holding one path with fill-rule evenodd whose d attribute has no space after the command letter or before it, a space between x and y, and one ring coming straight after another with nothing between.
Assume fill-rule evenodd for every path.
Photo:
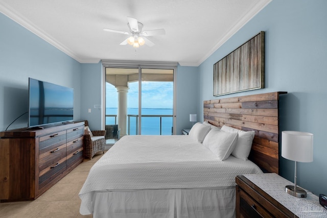
<instances>
[{"instance_id":1,"label":"rightmost white pillow, against the headboard, partly covered by another","mask_svg":"<svg viewBox=\"0 0 327 218\"><path fill-rule=\"evenodd\" d=\"M239 139L237 141L235 149L232 151L231 155L242 160L247 160L254 138L254 131L243 131L232 127L223 126L221 128L224 132L237 132L239 134Z\"/></svg>"}]
</instances>

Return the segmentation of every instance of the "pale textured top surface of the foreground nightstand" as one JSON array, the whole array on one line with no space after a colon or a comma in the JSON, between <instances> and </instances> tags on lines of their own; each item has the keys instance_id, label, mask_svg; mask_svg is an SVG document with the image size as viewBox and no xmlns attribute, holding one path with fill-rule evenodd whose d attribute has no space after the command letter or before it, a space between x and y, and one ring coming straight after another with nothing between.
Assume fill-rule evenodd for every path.
<instances>
[{"instance_id":1,"label":"pale textured top surface of the foreground nightstand","mask_svg":"<svg viewBox=\"0 0 327 218\"><path fill-rule=\"evenodd\" d=\"M307 198L289 195L285 191L285 186L294 184L277 174L246 174L238 176L238 179L253 189L261 189L264 192L263 195L269 195L298 217L327 217L327 210L319 204L318 196L310 191L307 191Z\"/></svg>"}]
</instances>

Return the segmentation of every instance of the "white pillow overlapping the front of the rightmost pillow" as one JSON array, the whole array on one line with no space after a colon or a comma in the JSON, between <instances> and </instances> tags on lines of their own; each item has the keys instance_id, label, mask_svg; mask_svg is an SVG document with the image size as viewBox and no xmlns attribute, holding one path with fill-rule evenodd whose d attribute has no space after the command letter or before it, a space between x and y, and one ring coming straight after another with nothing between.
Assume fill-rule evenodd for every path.
<instances>
[{"instance_id":1,"label":"white pillow overlapping the front of the rightmost pillow","mask_svg":"<svg viewBox=\"0 0 327 218\"><path fill-rule=\"evenodd\" d=\"M234 150L237 140L237 132L223 132L214 128L205 136L203 146L211 150L219 160L226 160Z\"/></svg>"}]
</instances>

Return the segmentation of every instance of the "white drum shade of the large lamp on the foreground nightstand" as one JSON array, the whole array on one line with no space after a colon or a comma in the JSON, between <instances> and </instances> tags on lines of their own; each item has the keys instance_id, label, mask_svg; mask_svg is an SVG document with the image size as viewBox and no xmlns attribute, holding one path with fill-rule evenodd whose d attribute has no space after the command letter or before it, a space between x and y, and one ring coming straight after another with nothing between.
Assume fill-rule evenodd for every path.
<instances>
[{"instance_id":1,"label":"white drum shade of the large lamp on the foreground nightstand","mask_svg":"<svg viewBox=\"0 0 327 218\"><path fill-rule=\"evenodd\" d=\"M282 157L299 162L313 161L313 134L282 131Z\"/></svg>"}]
</instances>

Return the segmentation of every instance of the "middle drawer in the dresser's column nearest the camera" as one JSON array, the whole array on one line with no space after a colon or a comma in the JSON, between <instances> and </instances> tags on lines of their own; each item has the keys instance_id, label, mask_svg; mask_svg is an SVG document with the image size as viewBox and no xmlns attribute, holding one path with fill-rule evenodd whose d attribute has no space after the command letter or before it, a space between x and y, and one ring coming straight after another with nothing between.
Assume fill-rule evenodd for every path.
<instances>
[{"instance_id":1,"label":"middle drawer in the dresser's column nearest the camera","mask_svg":"<svg viewBox=\"0 0 327 218\"><path fill-rule=\"evenodd\" d=\"M43 152L39 155L39 172L42 172L43 169L56 164L64 157L66 157L66 144L62 144L50 151Z\"/></svg>"}]
</instances>

